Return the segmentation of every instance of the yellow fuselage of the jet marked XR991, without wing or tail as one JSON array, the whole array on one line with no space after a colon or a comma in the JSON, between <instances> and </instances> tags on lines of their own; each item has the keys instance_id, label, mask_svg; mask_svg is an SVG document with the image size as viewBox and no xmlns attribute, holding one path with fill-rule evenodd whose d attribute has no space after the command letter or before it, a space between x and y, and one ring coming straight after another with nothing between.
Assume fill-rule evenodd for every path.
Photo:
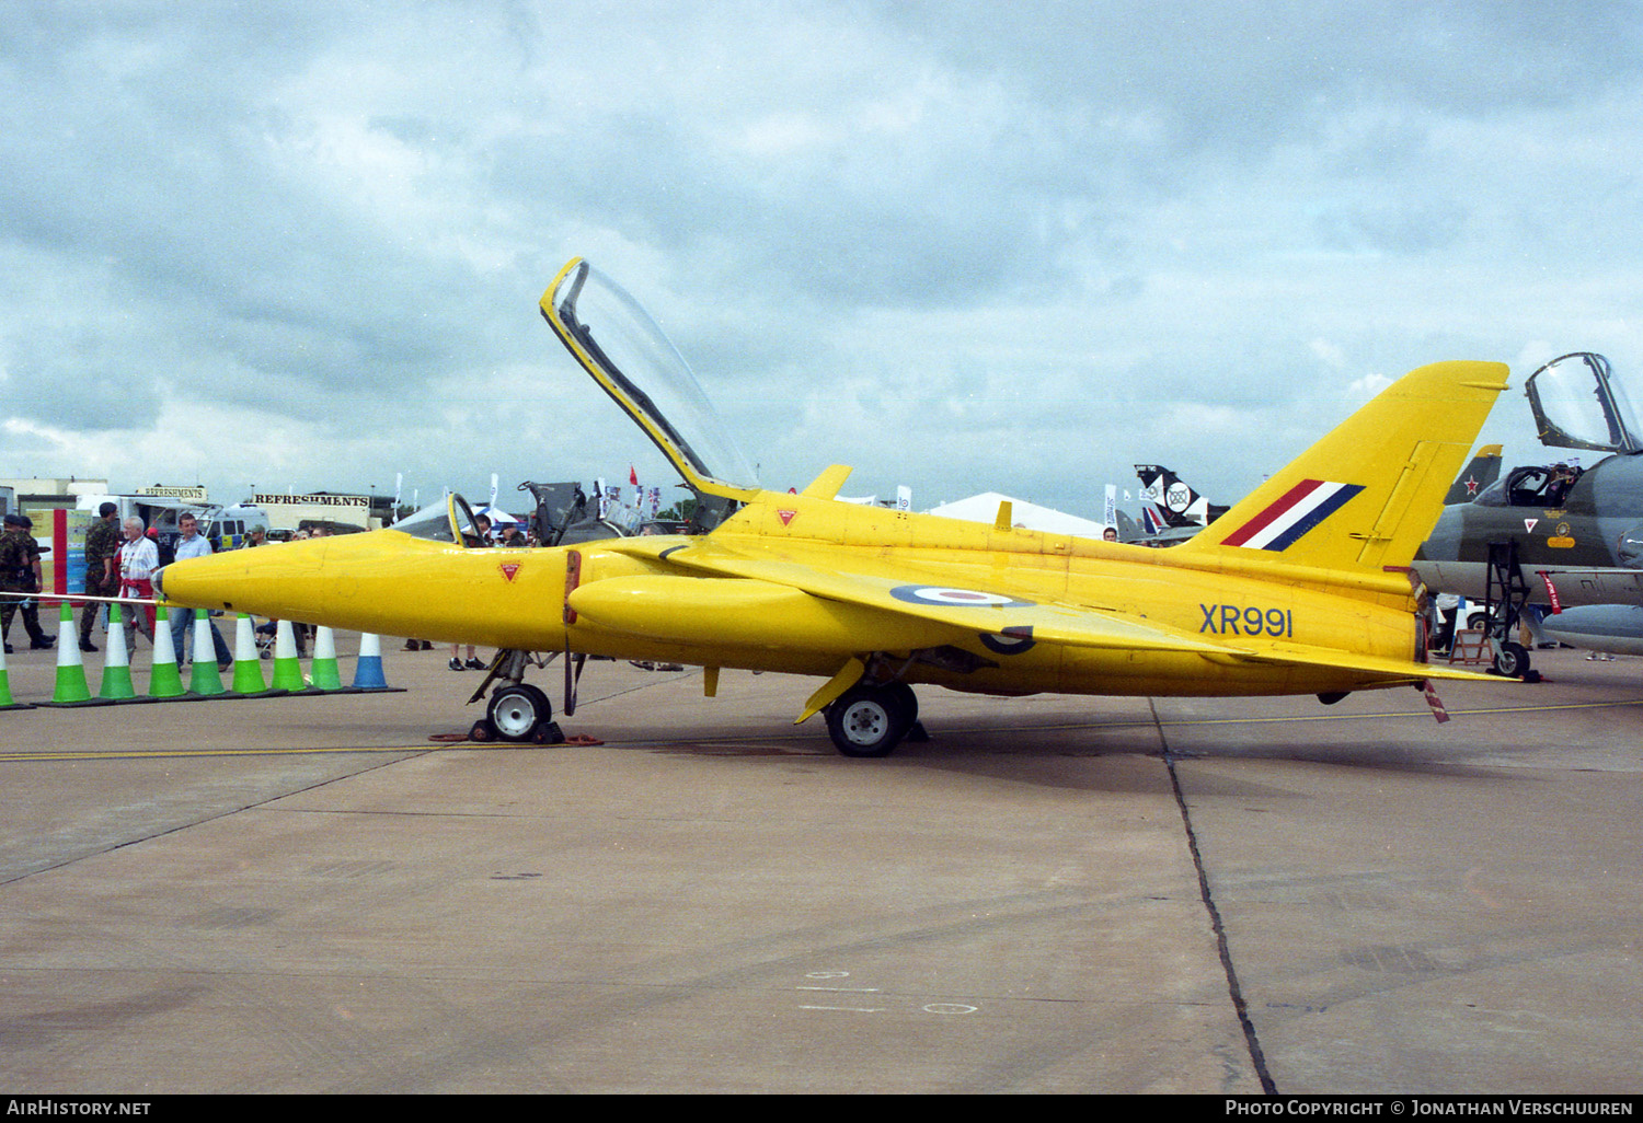
<instances>
[{"instance_id":1,"label":"yellow fuselage of the jet marked XR991, without wing or tail","mask_svg":"<svg viewBox=\"0 0 1643 1123\"><path fill-rule=\"evenodd\" d=\"M1401 575L1176 563L1173 552L769 493L713 535L726 547L738 539L766 548L785 540L810 565L833 558L841 571L882 570L897 596L935 604L1001 586L1010 596L997 598L992 630L961 629L670 560L702 539L506 550L396 530L202 558L173 568L164 591L177 603L381 635L705 667L828 676L840 652L879 652L910 660L905 681L983 693L1334 693L1408 678L1331 667L1331 653L1418 658ZM1094 609L1257 657L1033 639L1012 629L1012 606L1025 604ZM1259 657L1296 652L1319 658Z\"/></svg>"}]
</instances>

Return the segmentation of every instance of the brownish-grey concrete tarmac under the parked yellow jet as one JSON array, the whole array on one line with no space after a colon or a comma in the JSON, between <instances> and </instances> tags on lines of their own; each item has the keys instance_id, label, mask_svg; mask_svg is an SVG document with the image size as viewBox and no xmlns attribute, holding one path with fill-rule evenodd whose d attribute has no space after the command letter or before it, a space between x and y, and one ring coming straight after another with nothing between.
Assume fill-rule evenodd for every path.
<instances>
[{"instance_id":1,"label":"brownish-grey concrete tarmac under the parked yellow jet","mask_svg":"<svg viewBox=\"0 0 1643 1123\"><path fill-rule=\"evenodd\" d=\"M0 713L0 1085L1643 1082L1643 660L1538 652L1443 726L923 688L928 742L849 760L810 680L610 662L562 719L603 745L439 742L480 676L384 649L406 693Z\"/></svg>"}]
</instances>

